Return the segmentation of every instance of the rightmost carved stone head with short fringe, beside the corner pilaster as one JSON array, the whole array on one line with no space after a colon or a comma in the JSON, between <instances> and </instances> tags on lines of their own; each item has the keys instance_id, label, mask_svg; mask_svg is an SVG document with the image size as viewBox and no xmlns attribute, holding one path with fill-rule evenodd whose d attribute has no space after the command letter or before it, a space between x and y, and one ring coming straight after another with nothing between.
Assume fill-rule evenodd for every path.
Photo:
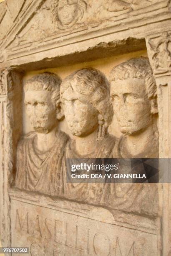
<instances>
[{"instance_id":1,"label":"rightmost carved stone head with short fringe, beside the corner pilaster","mask_svg":"<svg viewBox=\"0 0 171 256\"><path fill-rule=\"evenodd\" d=\"M130 59L114 67L110 82L121 132L135 134L151 125L158 109L156 82L148 59Z\"/></svg>"}]
</instances>

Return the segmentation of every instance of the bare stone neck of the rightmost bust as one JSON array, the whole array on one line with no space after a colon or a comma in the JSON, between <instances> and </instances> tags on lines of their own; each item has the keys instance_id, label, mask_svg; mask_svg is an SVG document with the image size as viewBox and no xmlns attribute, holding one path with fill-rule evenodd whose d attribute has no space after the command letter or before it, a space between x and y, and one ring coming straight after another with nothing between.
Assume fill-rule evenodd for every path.
<instances>
[{"instance_id":1,"label":"bare stone neck of the rightmost bust","mask_svg":"<svg viewBox=\"0 0 171 256\"><path fill-rule=\"evenodd\" d=\"M153 150L152 146L156 144L157 139L157 120L154 119L153 124L148 126L141 133L126 136L126 150L132 156L142 154L144 157L148 157L145 156L145 154L149 152L150 149Z\"/></svg>"}]
</instances>

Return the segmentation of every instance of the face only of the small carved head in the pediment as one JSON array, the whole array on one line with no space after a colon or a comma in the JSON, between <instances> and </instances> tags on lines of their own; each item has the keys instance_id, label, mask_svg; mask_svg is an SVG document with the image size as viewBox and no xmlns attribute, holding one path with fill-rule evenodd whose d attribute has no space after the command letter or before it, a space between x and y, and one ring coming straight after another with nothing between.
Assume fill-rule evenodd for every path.
<instances>
[{"instance_id":1,"label":"face only of the small carved head in the pediment","mask_svg":"<svg viewBox=\"0 0 171 256\"><path fill-rule=\"evenodd\" d=\"M66 0L59 0L58 3L58 17L63 25L69 25L73 21L77 9L77 2L67 2Z\"/></svg>"}]
</instances>

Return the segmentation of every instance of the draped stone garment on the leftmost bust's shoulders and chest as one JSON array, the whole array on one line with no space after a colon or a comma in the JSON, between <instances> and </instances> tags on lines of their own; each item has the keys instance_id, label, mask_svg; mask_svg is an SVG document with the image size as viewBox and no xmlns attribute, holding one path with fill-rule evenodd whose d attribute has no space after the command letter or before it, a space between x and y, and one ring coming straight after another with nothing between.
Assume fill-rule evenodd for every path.
<instances>
[{"instance_id":1,"label":"draped stone garment on the leftmost bust's shoulders and chest","mask_svg":"<svg viewBox=\"0 0 171 256\"><path fill-rule=\"evenodd\" d=\"M37 134L31 132L18 143L15 187L58 195L60 168L68 136L57 131L54 145L48 151L35 147L36 137Z\"/></svg>"}]
</instances>

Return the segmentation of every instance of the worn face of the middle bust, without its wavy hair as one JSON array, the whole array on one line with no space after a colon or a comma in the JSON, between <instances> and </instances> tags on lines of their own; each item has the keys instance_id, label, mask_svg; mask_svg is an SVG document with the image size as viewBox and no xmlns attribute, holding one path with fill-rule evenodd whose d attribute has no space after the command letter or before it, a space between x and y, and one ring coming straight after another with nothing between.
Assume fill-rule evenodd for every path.
<instances>
[{"instance_id":1,"label":"worn face of the middle bust, without its wavy hair","mask_svg":"<svg viewBox=\"0 0 171 256\"><path fill-rule=\"evenodd\" d=\"M73 135L87 136L98 127L98 111L72 85L73 88L68 87L61 99L65 118Z\"/></svg>"}]
</instances>

